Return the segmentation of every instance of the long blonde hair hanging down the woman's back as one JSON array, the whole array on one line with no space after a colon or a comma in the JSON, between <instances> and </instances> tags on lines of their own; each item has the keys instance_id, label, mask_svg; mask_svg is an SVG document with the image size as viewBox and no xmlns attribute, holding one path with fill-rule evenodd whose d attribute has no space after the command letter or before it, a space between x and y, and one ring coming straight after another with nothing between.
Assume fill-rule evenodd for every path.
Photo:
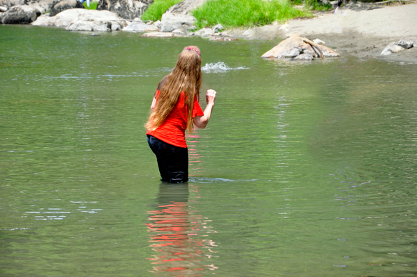
<instances>
[{"instance_id":1,"label":"long blonde hair hanging down the woman's back","mask_svg":"<svg viewBox=\"0 0 417 277\"><path fill-rule=\"evenodd\" d=\"M172 72L158 84L159 93L156 107L151 111L145 128L154 131L163 124L170 112L177 105L181 92L185 93L187 107L187 130L193 132L194 96L199 100L199 89L202 85L202 60L198 47L185 47L179 54L177 65Z\"/></svg>"}]
</instances>

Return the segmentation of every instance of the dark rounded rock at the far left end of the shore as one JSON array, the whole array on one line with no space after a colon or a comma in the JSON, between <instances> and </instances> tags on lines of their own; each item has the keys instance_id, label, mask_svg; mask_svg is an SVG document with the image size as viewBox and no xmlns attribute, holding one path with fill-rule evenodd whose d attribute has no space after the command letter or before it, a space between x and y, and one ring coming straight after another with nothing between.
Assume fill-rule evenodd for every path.
<instances>
[{"instance_id":1,"label":"dark rounded rock at the far left end of the shore","mask_svg":"<svg viewBox=\"0 0 417 277\"><path fill-rule=\"evenodd\" d=\"M1 15L3 24L30 24L39 16L40 11L30 6L13 6Z\"/></svg>"}]
</instances>

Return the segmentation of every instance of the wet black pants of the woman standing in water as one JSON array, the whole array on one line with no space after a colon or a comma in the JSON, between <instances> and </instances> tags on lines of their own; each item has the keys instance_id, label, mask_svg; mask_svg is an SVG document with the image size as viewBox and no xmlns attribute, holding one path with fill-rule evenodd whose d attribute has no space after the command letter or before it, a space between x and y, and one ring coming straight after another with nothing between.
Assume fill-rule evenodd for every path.
<instances>
[{"instance_id":1,"label":"wet black pants of the woman standing in water","mask_svg":"<svg viewBox=\"0 0 417 277\"><path fill-rule=\"evenodd\" d=\"M183 183L188 181L188 148L181 148L147 135L147 141L156 155L161 181Z\"/></svg>"}]
</instances>

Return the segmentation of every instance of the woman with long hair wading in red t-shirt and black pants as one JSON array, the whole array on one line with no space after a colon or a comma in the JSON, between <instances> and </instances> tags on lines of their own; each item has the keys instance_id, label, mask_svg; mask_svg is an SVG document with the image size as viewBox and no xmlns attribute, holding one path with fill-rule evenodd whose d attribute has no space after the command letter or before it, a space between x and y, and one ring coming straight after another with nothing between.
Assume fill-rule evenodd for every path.
<instances>
[{"instance_id":1,"label":"woman with long hair wading in red t-shirt and black pants","mask_svg":"<svg viewBox=\"0 0 417 277\"><path fill-rule=\"evenodd\" d=\"M207 90L206 109L199 106L202 60L198 47L185 47L177 65L158 84L145 127L147 141L158 161L161 181L188 181L188 149L185 132L194 125L205 128L213 110L214 90Z\"/></svg>"}]
</instances>

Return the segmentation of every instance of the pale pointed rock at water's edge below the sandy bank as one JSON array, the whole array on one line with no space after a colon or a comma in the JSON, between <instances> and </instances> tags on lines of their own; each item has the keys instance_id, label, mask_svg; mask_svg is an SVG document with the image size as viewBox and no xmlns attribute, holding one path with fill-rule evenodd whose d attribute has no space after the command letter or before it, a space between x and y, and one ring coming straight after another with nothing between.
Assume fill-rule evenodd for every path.
<instances>
[{"instance_id":1,"label":"pale pointed rock at water's edge below the sandy bank","mask_svg":"<svg viewBox=\"0 0 417 277\"><path fill-rule=\"evenodd\" d=\"M314 58L321 56L320 51L322 52L323 58L332 58L339 56L338 53L325 47L324 45L316 44L311 42L311 40L306 39L305 37L300 37L299 35L292 35L288 39L283 40L277 44L270 51L264 53L261 58L295 58L296 56L302 54L309 54ZM301 58L306 58L307 56L302 56Z\"/></svg>"}]
</instances>

